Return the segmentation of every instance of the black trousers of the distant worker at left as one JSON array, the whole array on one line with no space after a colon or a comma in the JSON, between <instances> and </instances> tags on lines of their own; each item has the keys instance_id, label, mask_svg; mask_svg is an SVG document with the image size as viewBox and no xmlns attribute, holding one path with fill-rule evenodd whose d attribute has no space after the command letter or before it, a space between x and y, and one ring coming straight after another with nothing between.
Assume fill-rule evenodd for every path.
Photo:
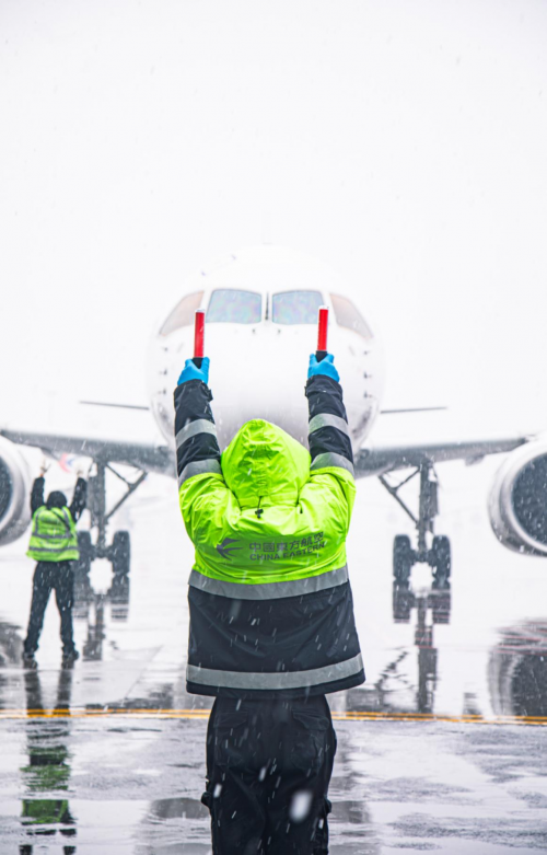
<instances>
[{"instance_id":1,"label":"black trousers of the distant worker at left","mask_svg":"<svg viewBox=\"0 0 547 855\"><path fill-rule=\"evenodd\" d=\"M62 652L71 654L74 649L72 637L72 605L74 602L72 562L38 562L34 570L31 617L24 642L25 654L34 654L38 649L39 634L44 625L44 614L51 590L55 590L57 608L61 616Z\"/></svg>"}]
</instances>

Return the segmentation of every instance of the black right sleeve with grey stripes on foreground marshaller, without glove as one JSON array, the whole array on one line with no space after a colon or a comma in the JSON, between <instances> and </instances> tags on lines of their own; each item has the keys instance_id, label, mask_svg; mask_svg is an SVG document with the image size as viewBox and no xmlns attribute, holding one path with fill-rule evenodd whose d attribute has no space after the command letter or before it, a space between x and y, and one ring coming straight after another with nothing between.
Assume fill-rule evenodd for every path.
<instances>
[{"instance_id":1,"label":"black right sleeve with grey stripes on foreground marshaller, without glove","mask_svg":"<svg viewBox=\"0 0 547 855\"><path fill-rule=\"evenodd\" d=\"M342 465L352 471L353 452L341 385L329 377L318 374L309 379L305 392L310 407L312 469L316 463L316 469ZM345 465L344 461L349 461L350 465Z\"/></svg>"}]
</instances>

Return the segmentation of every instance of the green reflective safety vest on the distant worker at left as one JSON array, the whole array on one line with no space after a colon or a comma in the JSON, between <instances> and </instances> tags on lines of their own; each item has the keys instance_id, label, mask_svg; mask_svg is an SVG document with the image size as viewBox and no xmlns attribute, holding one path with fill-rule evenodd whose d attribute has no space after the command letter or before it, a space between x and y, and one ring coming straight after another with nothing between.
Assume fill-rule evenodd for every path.
<instances>
[{"instance_id":1,"label":"green reflective safety vest on the distant worker at left","mask_svg":"<svg viewBox=\"0 0 547 855\"><path fill-rule=\"evenodd\" d=\"M68 508L38 508L26 554L36 562L71 562L80 557L75 523Z\"/></svg>"}]
</instances>

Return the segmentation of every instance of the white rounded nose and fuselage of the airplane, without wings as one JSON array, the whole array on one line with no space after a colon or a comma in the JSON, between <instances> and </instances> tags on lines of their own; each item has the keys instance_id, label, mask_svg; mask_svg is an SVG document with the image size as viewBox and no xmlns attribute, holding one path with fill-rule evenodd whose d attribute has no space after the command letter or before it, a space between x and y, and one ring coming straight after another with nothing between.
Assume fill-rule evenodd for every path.
<instances>
[{"instance_id":1,"label":"white rounded nose and fuselage of the airplane, without wings","mask_svg":"<svg viewBox=\"0 0 547 855\"><path fill-rule=\"evenodd\" d=\"M211 310L212 299L218 300L220 293L224 301L230 300L232 290L243 300L242 293L253 294L255 315L251 322L249 314L242 323L222 320L222 312L217 311L214 315ZM186 302L183 298L162 324L150 350L151 407L170 442L173 442L173 390L185 360L194 353L193 319L199 307L209 314L205 351L211 360L209 385L214 396L212 407L221 449L252 418L272 421L306 444L304 386L310 354L317 340L315 302L322 302L330 309L328 350L335 355L340 374L353 449L362 444L380 409L382 354L364 319L356 310L360 320L353 323L352 315L348 314L354 307L345 297L344 282L336 274L300 254L259 247L231 256L226 264L196 276L185 292ZM259 314L257 294L261 297ZM278 308L281 301L299 303L298 310L286 309L283 323L277 322L281 317ZM211 321L213 316L217 320ZM302 317L304 323L299 322ZM340 319L346 325L339 323Z\"/></svg>"}]
</instances>

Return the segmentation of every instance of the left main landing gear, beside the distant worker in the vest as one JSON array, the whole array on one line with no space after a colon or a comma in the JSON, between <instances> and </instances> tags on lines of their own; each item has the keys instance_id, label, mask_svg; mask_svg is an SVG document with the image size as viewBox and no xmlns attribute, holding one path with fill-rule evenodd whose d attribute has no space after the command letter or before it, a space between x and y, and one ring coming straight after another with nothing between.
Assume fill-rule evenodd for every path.
<instances>
[{"instance_id":1,"label":"left main landing gear, beside the distant worker in the vest","mask_svg":"<svg viewBox=\"0 0 547 855\"><path fill-rule=\"evenodd\" d=\"M135 490L142 484L147 477L146 472L141 472L137 481L129 482L119 472L108 463L95 461L96 475L90 477L88 486L88 508L91 513L91 528L96 528L96 542L93 543L90 531L78 533L78 545L80 547L80 559L77 565L77 574L86 576L91 569L92 562L95 558L106 558L112 564L115 578L126 577L129 574L131 564L131 543L128 531L117 531L112 539L112 543L106 542L106 529L114 513L124 505ZM116 502L114 508L106 510L106 470L123 481L127 490Z\"/></svg>"}]
</instances>

